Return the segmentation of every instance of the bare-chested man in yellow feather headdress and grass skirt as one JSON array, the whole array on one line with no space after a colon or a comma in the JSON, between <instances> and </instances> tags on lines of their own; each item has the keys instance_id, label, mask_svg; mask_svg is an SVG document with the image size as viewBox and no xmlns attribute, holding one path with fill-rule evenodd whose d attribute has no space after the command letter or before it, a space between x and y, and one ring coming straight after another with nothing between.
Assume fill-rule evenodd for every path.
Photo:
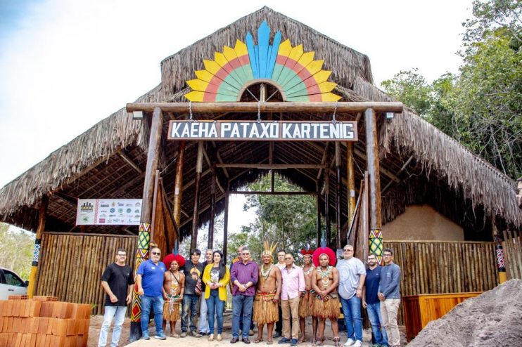
<instances>
[{"instance_id":1,"label":"bare-chested man in yellow feather headdress and grass skirt","mask_svg":"<svg viewBox=\"0 0 522 347\"><path fill-rule=\"evenodd\" d=\"M274 322L279 320L279 295L281 294L281 270L274 265L272 256L277 244L264 242L262 264L259 266L259 281L254 298L254 321L257 322L257 338L254 343L263 341L263 327L267 325L267 344L272 344Z\"/></svg>"}]
</instances>

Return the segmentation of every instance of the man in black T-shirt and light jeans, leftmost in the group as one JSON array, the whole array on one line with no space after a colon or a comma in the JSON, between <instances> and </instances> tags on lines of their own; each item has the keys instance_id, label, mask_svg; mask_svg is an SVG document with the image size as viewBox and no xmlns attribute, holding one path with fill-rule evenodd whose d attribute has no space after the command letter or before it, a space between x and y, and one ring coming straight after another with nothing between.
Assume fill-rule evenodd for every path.
<instances>
[{"instance_id":1,"label":"man in black T-shirt and light jeans, leftmost in the group","mask_svg":"<svg viewBox=\"0 0 522 347\"><path fill-rule=\"evenodd\" d=\"M127 251L120 248L116 251L116 262L107 266L101 275L101 287L106 292L106 299L98 347L106 346L110 322L114 317L113 339L110 346L117 347L118 341L120 341L125 311L127 311L127 304L132 299L132 285L134 284L132 268L125 265L125 261L127 261Z\"/></svg>"}]
</instances>

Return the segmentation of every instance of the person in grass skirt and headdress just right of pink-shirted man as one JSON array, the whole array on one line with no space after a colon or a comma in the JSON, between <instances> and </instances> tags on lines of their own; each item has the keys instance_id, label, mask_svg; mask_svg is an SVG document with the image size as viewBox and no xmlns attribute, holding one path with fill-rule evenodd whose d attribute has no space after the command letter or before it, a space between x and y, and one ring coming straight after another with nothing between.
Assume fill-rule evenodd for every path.
<instances>
[{"instance_id":1,"label":"person in grass skirt and headdress just right of pink-shirted man","mask_svg":"<svg viewBox=\"0 0 522 347\"><path fill-rule=\"evenodd\" d=\"M301 338L299 342L306 341L306 317L312 317L312 339L315 339L317 334L317 317L314 317L314 289L312 288L312 275L315 269L312 263L312 254L314 250L308 247L307 249L301 249L303 254L303 275L305 275L305 291L301 293L301 299L299 301L299 325L301 327Z\"/></svg>"}]
</instances>

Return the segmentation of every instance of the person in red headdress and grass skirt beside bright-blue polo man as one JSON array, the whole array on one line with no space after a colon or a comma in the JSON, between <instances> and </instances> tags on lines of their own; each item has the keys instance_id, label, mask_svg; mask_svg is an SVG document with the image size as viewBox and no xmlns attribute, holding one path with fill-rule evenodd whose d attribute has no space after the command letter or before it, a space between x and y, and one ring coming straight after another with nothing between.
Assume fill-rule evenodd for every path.
<instances>
[{"instance_id":1,"label":"person in red headdress and grass skirt beside bright-blue polo man","mask_svg":"<svg viewBox=\"0 0 522 347\"><path fill-rule=\"evenodd\" d=\"M179 303L183 300L185 291L185 275L179 268L185 265L185 258L179 254L169 254L163 259L165 271L163 275L163 331L166 332L167 321L170 322L170 336L179 337L176 334L176 321L179 320Z\"/></svg>"}]
</instances>

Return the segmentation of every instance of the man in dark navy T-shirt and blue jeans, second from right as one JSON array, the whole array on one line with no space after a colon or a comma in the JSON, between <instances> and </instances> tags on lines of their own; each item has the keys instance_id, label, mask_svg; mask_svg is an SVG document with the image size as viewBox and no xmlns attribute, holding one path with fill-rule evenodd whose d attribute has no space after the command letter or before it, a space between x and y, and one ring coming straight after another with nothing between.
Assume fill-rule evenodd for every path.
<instances>
[{"instance_id":1,"label":"man in dark navy T-shirt and blue jeans, second from right","mask_svg":"<svg viewBox=\"0 0 522 347\"><path fill-rule=\"evenodd\" d=\"M367 259L368 268L362 287L362 307L368 312L376 346L388 346L388 335L381 317L381 301L377 296L379 282L381 282L381 266L377 265L377 256L374 253L370 253Z\"/></svg>"}]
</instances>

